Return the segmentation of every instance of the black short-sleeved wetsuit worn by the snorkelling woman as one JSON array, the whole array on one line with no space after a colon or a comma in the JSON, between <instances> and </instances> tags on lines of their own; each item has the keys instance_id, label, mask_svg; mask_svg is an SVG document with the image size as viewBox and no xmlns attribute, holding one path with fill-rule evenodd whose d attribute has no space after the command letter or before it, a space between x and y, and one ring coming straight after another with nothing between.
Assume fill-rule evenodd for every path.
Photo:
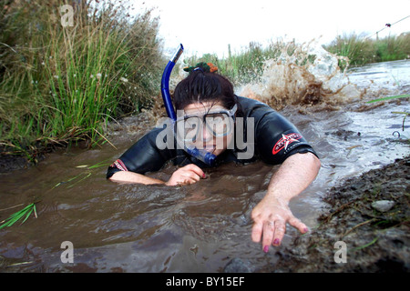
<instances>
[{"instance_id":1,"label":"black short-sleeved wetsuit worn by the snorkelling woman","mask_svg":"<svg viewBox=\"0 0 410 291\"><path fill-rule=\"evenodd\" d=\"M247 136L246 120L253 117L253 155L245 159L239 158L241 153L246 152L246 148L242 149L243 145L237 146L235 142L233 149L227 149L217 157L217 165L231 161L248 163L257 159L261 159L267 164L278 165L296 153L311 152L316 155L313 147L306 142L297 128L270 106L245 97L238 97L238 100L243 113L243 136L245 138ZM177 146L174 146L174 149L159 149L156 145L156 139L162 130L164 130L162 127L154 128L140 138L136 144L108 167L107 178L118 171L131 171L138 174L156 172L169 160L172 160L174 165L179 166L188 164L200 167L207 166L195 157L188 155L183 149L178 149Z\"/></svg>"}]
</instances>

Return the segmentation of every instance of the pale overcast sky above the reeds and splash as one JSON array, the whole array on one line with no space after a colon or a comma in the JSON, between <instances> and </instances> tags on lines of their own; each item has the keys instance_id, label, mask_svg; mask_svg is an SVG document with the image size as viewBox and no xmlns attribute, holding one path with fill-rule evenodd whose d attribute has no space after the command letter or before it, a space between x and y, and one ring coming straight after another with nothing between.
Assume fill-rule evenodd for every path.
<instances>
[{"instance_id":1,"label":"pale overcast sky above the reeds and splash","mask_svg":"<svg viewBox=\"0 0 410 291\"><path fill-rule=\"evenodd\" d=\"M352 33L379 37L410 31L410 0L130 0L158 7L164 45L185 54L241 51L251 41L266 44L278 37L297 42L313 38L327 44L336 35ZM395 25L393 25L395 24ZM374 35L375 36L375 35Z\"/></svg>"}]
</instances>

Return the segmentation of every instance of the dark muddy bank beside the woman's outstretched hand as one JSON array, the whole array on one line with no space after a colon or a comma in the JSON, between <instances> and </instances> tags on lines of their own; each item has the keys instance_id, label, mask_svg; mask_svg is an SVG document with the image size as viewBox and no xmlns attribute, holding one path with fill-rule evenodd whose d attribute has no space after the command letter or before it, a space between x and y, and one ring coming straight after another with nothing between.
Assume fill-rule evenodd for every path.
<instances>
[{"instance_id":1,"label":"dark muddy bank beside the woman's outstretched hand","mask_svg":"<svg viewBox=\"0 0 410 291\"><path fill-rule=\"evenodd\" d=\"M318 226L261 272L409 272L410 156L331 188ZM381 202L382 201L382 202ZM384 208L383 208L384 207ZM340 246L345 243L345 263Z\"/></svg>"}]
</instances>

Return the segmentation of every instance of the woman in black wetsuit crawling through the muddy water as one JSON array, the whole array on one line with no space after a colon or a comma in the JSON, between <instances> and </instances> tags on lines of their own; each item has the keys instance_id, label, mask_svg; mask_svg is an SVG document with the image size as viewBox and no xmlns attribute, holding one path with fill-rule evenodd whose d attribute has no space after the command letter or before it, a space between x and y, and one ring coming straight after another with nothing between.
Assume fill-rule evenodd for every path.
<instances>
[{"instance_id":1,"label":"woman in black wetsuit crawling through the muddy water","mask_svg":"<svg viewBox=\"0 0 410 291\"><path fill-rule=\"evenodd\" d=\"M250 163L257 159L281 165L266 195L251 212L251 238L262 241L262 250L280 246L286 224L306 233L308 227L292 215L289 202L309 186L321 163L294 125L270 106L234 94L233 85L211 64L185 68L190 72L177 85L176 122L144 135L108 167L107 178L115 182L183 186L206 178L209 167L190 156L184 147L200 148L215 156L215 165ZM171 137L169 137L171 128ZM170 142L172 141L172 142ZM180 145L183 146L180 146ZM179 166L168 181L149 176L168 161Z\"/></svg>"}]
</instances>

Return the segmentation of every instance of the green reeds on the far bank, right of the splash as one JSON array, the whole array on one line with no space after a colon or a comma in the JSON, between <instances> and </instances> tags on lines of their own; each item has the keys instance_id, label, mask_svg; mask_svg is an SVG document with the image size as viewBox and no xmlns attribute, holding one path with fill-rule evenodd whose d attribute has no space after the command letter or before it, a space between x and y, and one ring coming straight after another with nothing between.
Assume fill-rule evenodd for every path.
<instances>
[{"instance_id":1,"label":"green reeds on the far bank, right of the splash","mask_svg":"<svg viewBox=\"0 0 410 291\"><path fill-rule=\"evenodd\" d=\"M324 48L335 55L347 56L350 65L402 60L410 57L410 33L371 39L359 35L339 35Z\"/></svg>"}]
</instances>

